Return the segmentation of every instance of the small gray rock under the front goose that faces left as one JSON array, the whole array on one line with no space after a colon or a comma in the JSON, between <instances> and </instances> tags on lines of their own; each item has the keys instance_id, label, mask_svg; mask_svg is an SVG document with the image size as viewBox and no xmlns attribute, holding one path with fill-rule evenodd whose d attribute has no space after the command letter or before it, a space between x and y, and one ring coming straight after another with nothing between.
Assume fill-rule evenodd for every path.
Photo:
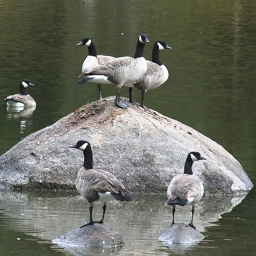
<instances>
[{"instance_id":1,"label":"small gray rock under the front goose that faces left","mask_svg":"<svg viewBox=\"0 0 256 256\"><path fill-rule=\"evenodd\" d=\"M52 243L64 248L72 246L114 248L124 244L122 235L104 223L76 228L53 239Z\"/></svg>"}]
</instances>

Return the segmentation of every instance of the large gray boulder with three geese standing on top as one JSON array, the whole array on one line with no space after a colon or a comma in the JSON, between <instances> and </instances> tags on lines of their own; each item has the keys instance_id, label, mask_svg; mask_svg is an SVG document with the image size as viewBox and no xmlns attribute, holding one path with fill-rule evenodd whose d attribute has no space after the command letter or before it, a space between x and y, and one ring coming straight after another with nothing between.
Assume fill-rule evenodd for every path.
<instances>
[{"instance_id":1,"label":"large gray boulder with three geese standing on top","mask_svg":"<svg viewBox=\"0 0 256 256\"><path fill-rule=\"evenodd\" d=\"M193 166L205 193L246 193L253 187L241 164L218 143L156 111L116 108L109 97L84 105L8 150L0 157L0 188L74 188L83 154L68 145L77 140L90 141L94 167L124 180L132 192L165 193L193 150L207 158Z\"/></svg>"}]
</instances>

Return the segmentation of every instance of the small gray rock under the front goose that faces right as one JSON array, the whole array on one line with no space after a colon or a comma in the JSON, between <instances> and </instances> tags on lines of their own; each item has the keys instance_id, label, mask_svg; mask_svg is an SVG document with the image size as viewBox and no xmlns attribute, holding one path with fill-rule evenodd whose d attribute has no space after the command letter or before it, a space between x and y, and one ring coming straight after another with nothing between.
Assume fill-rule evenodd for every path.
<instances>
[{"instance_id":1,"label":"small gray rock under the front goose that faces right","mask_svg":"<svg viewBox=\"0 0 256 256\"><path fill-rule=\"evenodd\" d=\"M159 241L167 244L195 244L203 239L203 234L185 223L175 223L158 237Z\"/></svg>"}]
</instances>

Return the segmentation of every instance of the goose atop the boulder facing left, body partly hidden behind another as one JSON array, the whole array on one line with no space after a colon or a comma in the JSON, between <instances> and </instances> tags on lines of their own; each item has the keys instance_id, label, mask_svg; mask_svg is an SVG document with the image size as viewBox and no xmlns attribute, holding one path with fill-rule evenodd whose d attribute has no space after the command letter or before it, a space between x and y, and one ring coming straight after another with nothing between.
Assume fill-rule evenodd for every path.
<instances>
[{"instance_id":1,"label":"goose atop the boulder facing left, body partly hidden behind another","mask_svg":"<svg viewBox=\"0 0 256 256\"><path fill-rule=\"evenodd\" d=\"M86 45L88 47L88 56L83 62L81 76L83 76L85 72L88 72L89 70L92 70L93 68L98 67L99 65L103 65L107 61L115 59L115 57L112 57L112 56L97 55L96 47L95 47L95 44L93 43L92 38L89 38L89 37L83 38L82 41L79 42L77 45L82 45L82 46ZM102 99L100 83L97 83L97 87L98 87L99 97L100 99Z\"/></svg>"}]
</instances>

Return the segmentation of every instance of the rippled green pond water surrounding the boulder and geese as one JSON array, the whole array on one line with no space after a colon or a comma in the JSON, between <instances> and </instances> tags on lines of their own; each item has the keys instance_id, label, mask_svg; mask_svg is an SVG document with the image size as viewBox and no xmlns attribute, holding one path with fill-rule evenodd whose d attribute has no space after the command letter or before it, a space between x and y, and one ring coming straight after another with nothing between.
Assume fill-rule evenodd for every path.
<instances>
[{"instance_id":1,"label":"rippled green pond water surrounding the boulder and geese","mask_svg":"<svg viewBox=\"0 0 256 256\"><path fill-rule=\"evenodd\" d=\"M255 7L246 0L0 1L0 95L4 99L19 92L19 82L26 78L36 84L29 94L37 102L36 110L25 116L7 113L5 102L0 102L0 154L31 132L98 99L94 84L76 85L87 54L76 46L81 38L91 36L99 54L133 56L137 36L147 33L151 43L163 40L172 51L160 53L170 77L146 94L145 106L220 143L255 183ZM145 47L147 59L152 45ZM102 94L114 95L115 88L103 86ZM122 95L128 96L127 88L122 88ZM140 92L134 90L134 99L140 101ZM0 198L0 255L66 253L43 242L79 227L88 205L81 200L67 209L77 194L60 193L62 205L55 209L51 198L59 194L40 193ZM125 225L111 209L107 221L124 236L125 245L116 252L120 255L254 255L253 198L255 189L232 211L223 211L221 219L199 218L198 225L207 223L200 230L205 240L188 248L169 248L157 241L170 218L168 209L163 208L164 214L156 211L164 207L164 195L153 202L139 196L137 204L146 203L140 211L132 203ZM214 211L212 207L208 211Z\"/></svg>"}]
</instances>

